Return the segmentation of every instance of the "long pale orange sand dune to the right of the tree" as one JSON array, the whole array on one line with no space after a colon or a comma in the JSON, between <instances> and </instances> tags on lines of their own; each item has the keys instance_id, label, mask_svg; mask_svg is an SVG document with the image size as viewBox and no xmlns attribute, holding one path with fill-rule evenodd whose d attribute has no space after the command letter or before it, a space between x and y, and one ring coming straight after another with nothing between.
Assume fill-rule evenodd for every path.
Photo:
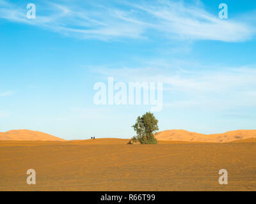
<instances>
[{"instance_id":1,"label":"long pale orange sand dune to the right of the tree","mask_svg":"<svg viewBox=\"0 0 256 204\"><path fill-rule=\"evenodd\" d=\"M237 130L227 133L204 135L182 129L171 129L156 134L159 141L183 141L183 142L216 142L225 143L236 140L256 138L256 130Z\"/></svg>"}]
</instances>

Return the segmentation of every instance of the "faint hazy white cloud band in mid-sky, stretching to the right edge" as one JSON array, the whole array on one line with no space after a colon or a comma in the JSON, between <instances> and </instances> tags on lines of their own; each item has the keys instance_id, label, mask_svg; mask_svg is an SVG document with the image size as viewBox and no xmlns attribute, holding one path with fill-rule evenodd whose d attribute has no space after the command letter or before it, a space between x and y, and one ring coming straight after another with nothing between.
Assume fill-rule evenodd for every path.
<instances>
[{"instance_id":1,"label":"faint hazy white cloud band in mid-sky, stretching to the right edge","mask_svg":"<svg viewBox=\"0 0 256 204\"><path fill-rule=\"evenodd\" d=\"M192 64L191 64L192 66ZM97 73L116 80L163 82L168 90L184 92L220 92L232 88L243 89L256 86L256 68L218 68L218 69L177 69L158 66L145 68L95 68ZM249 71L251 70L251 71ZM254 73L254 74L252 74ZM253 91L254 92L254 91Z\"/></svg>"}]
</instances>

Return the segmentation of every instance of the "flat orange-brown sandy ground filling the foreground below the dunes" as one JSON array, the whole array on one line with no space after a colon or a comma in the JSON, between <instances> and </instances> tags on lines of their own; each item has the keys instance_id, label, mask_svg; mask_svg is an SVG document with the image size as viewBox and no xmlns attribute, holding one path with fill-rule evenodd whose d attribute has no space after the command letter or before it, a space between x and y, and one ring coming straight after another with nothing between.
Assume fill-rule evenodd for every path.
<instances>
[{"instance_id":1,"label":"flat orange-brown sandy ground filling the foreground below the dunes","mask_svg":"<svg viewBox=\"0 0 256 204\"><path fill-rule=\"evenodd\" d=\"M256 143L0 142L1 191L256 191ZM26 171L36 171L36 185ZM228 170L228 185L218 171Z\"/></svg>"}]
</instances>

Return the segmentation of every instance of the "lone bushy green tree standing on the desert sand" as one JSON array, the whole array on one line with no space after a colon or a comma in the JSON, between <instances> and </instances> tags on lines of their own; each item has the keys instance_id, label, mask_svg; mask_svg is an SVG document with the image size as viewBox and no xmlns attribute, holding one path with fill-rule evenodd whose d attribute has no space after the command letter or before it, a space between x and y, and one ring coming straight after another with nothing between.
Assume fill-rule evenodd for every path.
<instances>
[{"instance_id":1,"label":"lone bushy green tree standing on the desert sand","mask_svg":"<svg viewBox=\"0 0 256 204\"><path fill-rule=\"evenodd\" d=\"M157 140L154 137L154 133L159 130L157 123L158 120L153 113L147 112L142 117L139 116L132 126L137 134L131 139L132 142L139 141L141 144L156 144Z\"/></svg>"}]
</instances>

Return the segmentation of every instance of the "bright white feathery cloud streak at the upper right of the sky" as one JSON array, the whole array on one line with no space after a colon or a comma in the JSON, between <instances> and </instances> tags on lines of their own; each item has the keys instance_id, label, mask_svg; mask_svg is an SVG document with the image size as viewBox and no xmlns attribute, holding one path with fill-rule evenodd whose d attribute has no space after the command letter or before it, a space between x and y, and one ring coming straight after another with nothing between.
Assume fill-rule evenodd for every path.
<instances>
[{"instance_id":1,"label":"bright white feathery cloud streak at the upper right of the sky","mask_svg":"<svg viewBox=\"0 0 256 204\"><path fill-rule=\"evenodd\" d=\"M137 6L157 18L156 27L170 38L191 40L244 41L255 29L240 20L221 20L204 8L175 1L161 1L156 6Z\"/></svg>"}]
</instances>

